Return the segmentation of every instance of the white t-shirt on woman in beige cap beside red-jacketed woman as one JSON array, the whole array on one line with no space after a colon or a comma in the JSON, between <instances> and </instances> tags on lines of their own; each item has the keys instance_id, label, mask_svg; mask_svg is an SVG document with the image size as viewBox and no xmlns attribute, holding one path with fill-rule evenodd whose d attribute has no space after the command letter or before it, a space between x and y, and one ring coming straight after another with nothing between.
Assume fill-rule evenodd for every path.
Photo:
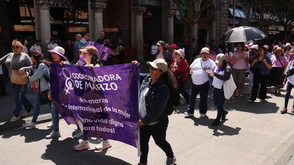
<instances>
[{"instance_id":1,"label":"white t-shirt on woman in beige cap beside red-jacketed woman","mask_svg":"<svg viewBox=\"0 0 294 165\"><path fill-rule=\"evenodd\" d=\"M203 61L202 58L196 58L190 66L194 68L192 74L193 83L196 85L201 85L209 80L207 72L204 71L203 68L213 68L216 66L216 63L214 63L214 61L209 58L206 61Z\"/></svg>"}]
</instances>

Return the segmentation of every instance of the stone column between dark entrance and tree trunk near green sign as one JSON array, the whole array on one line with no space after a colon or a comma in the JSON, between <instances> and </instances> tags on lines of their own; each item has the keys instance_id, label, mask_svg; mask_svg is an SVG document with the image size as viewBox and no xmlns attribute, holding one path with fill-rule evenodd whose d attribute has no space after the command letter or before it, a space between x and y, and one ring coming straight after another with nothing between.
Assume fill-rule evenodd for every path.
<instances>
[{"instance_id":1,"label":"stone column between dark entrance and tree trunk near green sign","mask_svg":"<svg viewBox=\"0 0 294 165\"><path fill-rule=\"evenodd\" d=\"M176 11L168 10L164 12L167 20L166 20L166 31L167 31L167 41L169 45L173 43L173 16L176 15Z\"/></svg>"}]
</instances>

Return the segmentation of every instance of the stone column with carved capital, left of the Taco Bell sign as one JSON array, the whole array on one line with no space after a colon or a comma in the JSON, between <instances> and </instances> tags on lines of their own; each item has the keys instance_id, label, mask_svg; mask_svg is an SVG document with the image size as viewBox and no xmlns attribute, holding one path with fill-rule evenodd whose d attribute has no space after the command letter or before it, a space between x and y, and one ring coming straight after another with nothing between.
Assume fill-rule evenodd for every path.
<instances>
[{"instance_id":1,"label":"stone column with carved capital, left of the Taco Bell sign","mask_svg":"<svg viewBox=\"0 0 294 165\"><path fill-rule=\"evenodd\" d=\"M42 53L48 57L47 45L51 38L50 27L50 6L53 4L53 0L38 0L38 6L40 11L40 29L41 29L41 48Z\"/></svg>"}]
</instances>

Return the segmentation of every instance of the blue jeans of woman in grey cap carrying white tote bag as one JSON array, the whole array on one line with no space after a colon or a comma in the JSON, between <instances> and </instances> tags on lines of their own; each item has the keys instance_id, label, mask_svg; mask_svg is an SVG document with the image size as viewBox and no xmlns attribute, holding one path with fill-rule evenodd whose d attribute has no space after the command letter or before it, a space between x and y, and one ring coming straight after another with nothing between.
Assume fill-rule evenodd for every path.
<instances>
[{"instance_id":1,"label":"blue jeans of woman in grey cap carrying white tote bag","mask_svg":"<svg viewBox=\"0 0 294 165\"><path fill-rule=\"evenodd\" d=\"M220 119L220 117L225 112L225 109L223 108L223 104L225 103L225 93L223 92L223 89L213 89L213 101L214 105L216 105L218 109L218 115L216 116L216 119Z\"/></svg>"}]
</instances>

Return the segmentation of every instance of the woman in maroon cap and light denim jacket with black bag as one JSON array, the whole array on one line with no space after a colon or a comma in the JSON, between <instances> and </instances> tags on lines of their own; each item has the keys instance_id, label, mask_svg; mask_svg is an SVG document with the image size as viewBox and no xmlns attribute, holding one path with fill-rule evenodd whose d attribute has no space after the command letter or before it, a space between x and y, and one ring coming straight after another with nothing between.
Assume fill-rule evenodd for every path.
<instances>
[{"instance_id":1,"label":"woman in maroon cap and light denim jacket with black bag","mask_svg":"<svg viewBox=\"0 0 294 165\"><path fill-rule=\"evenodd\" d=\"M43 54L34 50L31 56L33 66L29 71L29 74L26 75L26 78L29 80L28 86L29 89L34 88L36 90L35 97L35 108L33 112L33 119L28 124L23 124L22 126L27 128L36 128L36 121L39 116L41 101L40 101L40 92L49 90L49 64L46 60L43 60ZM40 85L40 86L39 86ZM37 89L36 89L37 88ZM49 109L51 109L51 103L47 104Z\"/></svg>"}]
</instances>

